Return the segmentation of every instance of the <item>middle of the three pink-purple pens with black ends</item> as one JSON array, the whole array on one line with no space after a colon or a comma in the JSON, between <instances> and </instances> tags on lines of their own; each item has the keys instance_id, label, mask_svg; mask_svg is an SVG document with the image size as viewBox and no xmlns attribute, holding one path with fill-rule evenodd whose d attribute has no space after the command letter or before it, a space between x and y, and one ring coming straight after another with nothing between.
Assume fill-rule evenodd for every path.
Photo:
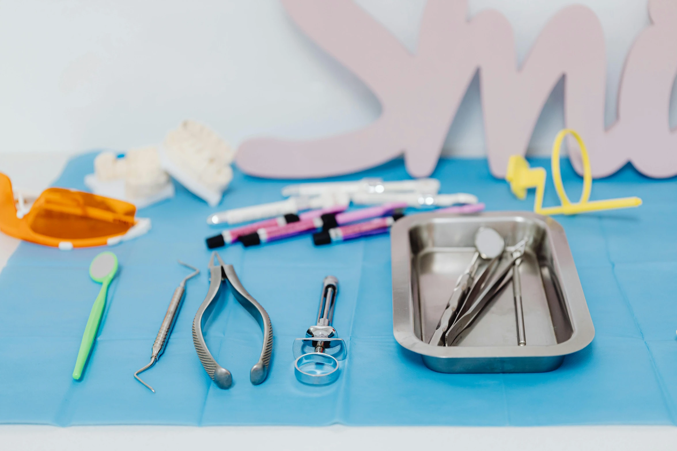
<instances>
[{"instance_id":1,"label":"middle of the three pink-purple pens with black ends","mask_svg":"<svg viewBox=\"0 0 677 451\"><path fill-rule=\"evenodd\" d=\"M339 226L339 224L347 224L348 222L353 222L355 220L392 214L395 210L403 206L406 206L406 204L401 202L385 204L383 206L361 208L351 212L323 214L319 218L292 222L292 224L286 224L282 227L264 227L263 229L257 230L255 233L241 236L240 242L242 242L244 247L249 247L253 245L259 245L261 243L269 243L271 241L295 237L297 235L310 233L318 229L326 231Z\"/></svg>"}]
</instances>

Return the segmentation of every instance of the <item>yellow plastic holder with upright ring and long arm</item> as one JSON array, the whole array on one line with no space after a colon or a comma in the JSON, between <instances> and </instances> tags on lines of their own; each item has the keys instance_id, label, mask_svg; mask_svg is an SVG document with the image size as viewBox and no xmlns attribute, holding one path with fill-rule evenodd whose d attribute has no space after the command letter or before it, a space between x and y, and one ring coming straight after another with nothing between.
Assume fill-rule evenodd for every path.
<instances>
[{"instance_id":1,"label":"yellow plastic holder with upright ring and long arm","mask_svg":"<svg viewBox=\"0 0 677 451\"><path fill-rule=\"evenodd\" d=\"M580 201L571 203L562 184L562 174L559 171L559 149L564 137L571 135L578 142L583 160L583 193ZM544 168L530 168L529 163L522 156L513 155L508 161L506 181L510 182L510 190L518 199L527 197L527 189L536 188L536 199L533 201L533 212L538 214L577 214L594 212L598 210L613 210L615 208L629 208L642 205L639 197L623 197L620 199L607 199L588 201L592 191L592 170L590 170L590 158L588 150L580 135L571 128L565 128L557 133L552 143L552 182L557 196L562 205L559 207L543 208L543 193L546 187L546 170Z\"/></svg>"}]
</instances>

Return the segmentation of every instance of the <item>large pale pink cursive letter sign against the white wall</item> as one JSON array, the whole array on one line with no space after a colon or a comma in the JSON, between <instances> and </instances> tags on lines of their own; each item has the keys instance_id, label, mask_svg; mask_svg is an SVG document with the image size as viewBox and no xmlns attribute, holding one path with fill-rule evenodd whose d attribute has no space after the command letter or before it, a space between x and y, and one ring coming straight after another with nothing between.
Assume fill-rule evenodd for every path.
<instances>
[{"instance_id":1,"label":"large pale pink cursive letter sign against the white wall","mask_svg":"<svg viewBox=\"0 0 677 451\"><path fill-rule=\"evenodd\" d=\"M312 141L251 139L236 161L248 174L305 178L347 174L402 153L412 176L428 176L458 105L479 69L487 154L492 174L510 155L524 155L543 105L565 76L565 121L582 135L592 174L613 174L627 162L651 177L677 174L677 133L668 110L677 75L677 1L649 0L653 24L628 54L618 119L605 130L605 42L587 7L559 11L521 68L512 28L498 11L466 20L466 0L428 0L412 55L349 0L282 0L313 41L361 78L383 114L368 127ZM569 149L577 149L569 141ZM579 156L577 151L573 156ZM578 158L572 158L582 172Z\"/></svg>"}]
</instances>

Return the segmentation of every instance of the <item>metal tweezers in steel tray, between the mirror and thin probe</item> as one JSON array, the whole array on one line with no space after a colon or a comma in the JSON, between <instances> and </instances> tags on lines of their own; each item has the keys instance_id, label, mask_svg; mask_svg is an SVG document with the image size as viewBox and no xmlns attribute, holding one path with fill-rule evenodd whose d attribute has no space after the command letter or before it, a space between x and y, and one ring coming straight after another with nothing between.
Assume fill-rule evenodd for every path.
<instances>
[{"instance_id":1,"label":"metal tweezers in steel tray, between the mirror and thin probe","mask_svg":"<svg viewBox=\"0 0 677 451\"><path fill-rule=\"evenodd\" d=\"M456 316L456 321L445 335L446 346L453 346L454 341L458 339L466 327L475 321L475 318L477 318L489 301L494 298L496 293L501 291L506 283L512 279L512 275L515 272L515 262L524 255L526 244L527 239L523 239L508 250L510 252L510 260L508 260L507 263L500 264L498 260L500 257L492 260L489 266L492 266L492 264L500 264L500 266L492 269L491 281L480 287L481 292L477 297L474 297L472 292L468 295L464 306L460 309L458 316ZM490 268L485 269L485 273L489 269ZM475 291L475 289L473 289L473 291Z\"/></svg>"}]
</instances>

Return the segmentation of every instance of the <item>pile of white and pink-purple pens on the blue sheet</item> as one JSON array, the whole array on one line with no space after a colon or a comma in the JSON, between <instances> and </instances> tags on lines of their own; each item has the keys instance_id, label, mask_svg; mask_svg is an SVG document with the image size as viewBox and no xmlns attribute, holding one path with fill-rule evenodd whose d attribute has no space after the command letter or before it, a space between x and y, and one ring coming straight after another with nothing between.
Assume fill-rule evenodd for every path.
<instances>
[{"instance_id":1,"label":"pile of white and pink-purple pens on the blue sheet","mask_svg":"<svg viewBox=\"0 0 677 451\"><path fill-rule=\"evenodd\" d=\"M210 225L257 222L209 237L206 245L214 249L240 241L249 247L305 233L313 233L315 245L326 245L387 233L408 207L447 207L438 211L458 214L483 210L484 204L478 204L474 195L439 194L439 186L437 179L288 185L282 189L286 200L211 214L207 218ZM345 212L351 202L372 207ZM309 209L313 210L300 213Z\"/></svg>"}]
</instances>

